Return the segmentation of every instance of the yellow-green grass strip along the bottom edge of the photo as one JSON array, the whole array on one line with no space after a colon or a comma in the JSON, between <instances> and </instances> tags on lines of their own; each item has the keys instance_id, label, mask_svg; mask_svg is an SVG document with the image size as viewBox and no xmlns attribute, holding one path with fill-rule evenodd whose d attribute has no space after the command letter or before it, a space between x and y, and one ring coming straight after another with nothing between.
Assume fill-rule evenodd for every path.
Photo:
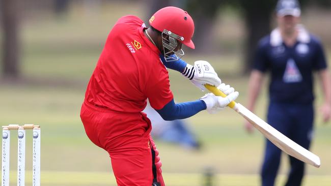
<instances>
[{"instance_id":1,"label":"yellow-green grass strip along the bottom edge of the photo","mask_svg":"<svg viewBox=\"0 0 331 186\"><path fill-rule=\"evenodd\" d=\"M16 172L11 172L15 175ZM203 173L163 173L163 178L167 185L172 186L200 186L206 184L207 180L213 185L222 186L255 186L259 185L260 178L257 174L213 174L206 177ZM276 186L284 185L286 176L281 174L276 182ZM14 176L10 179L11 184L16 183ZM32 172L26 172L25 183L32 183ZM328 175L308 175L302 185L328 185ZM116 185L116 180L112 173L106 172L67 172L67 171L43 171L41 185L44 186L111 186Z\"/></svg>"}]
</instances>

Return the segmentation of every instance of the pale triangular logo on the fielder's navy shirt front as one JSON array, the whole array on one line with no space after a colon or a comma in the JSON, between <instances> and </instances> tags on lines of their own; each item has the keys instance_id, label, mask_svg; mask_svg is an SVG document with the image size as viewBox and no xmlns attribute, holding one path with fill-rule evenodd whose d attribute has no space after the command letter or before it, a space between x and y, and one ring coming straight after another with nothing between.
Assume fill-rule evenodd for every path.
<instances>
[{"instance_id":1,"label":"pale triangular logo on the fielder's navy shirt front","mask_svg":"<svg viewBox=\"0 0 331 186\"><path fill-rule=\"evenodd\" d=\"M297 83L302 80L301 73L292 58L287 60L283 80L285 83Z\"/></svg>"}]
</instances>

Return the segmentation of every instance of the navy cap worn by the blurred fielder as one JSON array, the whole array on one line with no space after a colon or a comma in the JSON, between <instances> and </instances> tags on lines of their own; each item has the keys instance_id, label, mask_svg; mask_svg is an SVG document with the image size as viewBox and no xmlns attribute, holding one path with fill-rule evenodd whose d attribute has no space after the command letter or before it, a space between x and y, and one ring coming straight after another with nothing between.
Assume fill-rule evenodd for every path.
<instances>
[{"instance_id":1,"label":"navy cap worn by the blurred fielder","mask_svg":"<svg viewBox=\"0 0 331 186\"><path fill-rule=\"evenodd\" d=\"M301 14L300 5L297 0L279 0L276 6L278 16L292 15L299 17Z\"/></svg>"}]
</instances>

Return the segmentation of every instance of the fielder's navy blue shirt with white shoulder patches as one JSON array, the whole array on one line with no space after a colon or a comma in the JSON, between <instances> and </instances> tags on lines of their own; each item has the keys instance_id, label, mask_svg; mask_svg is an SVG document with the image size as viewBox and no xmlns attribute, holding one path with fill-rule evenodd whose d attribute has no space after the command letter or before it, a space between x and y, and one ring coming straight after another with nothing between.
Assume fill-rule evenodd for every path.
<instances>
[{"instance_id":1,"label":"fielder's navy blue shirt with white shoulder patches","mask_svg":"<svg viewBox=\"0 0 331 186\"><path fill-rule=\"evenodd\" d=\"M326 67L323 49L316 37L302 29L297 42L288 47L275 29L260 40L253 69L270 72L270 102L311 104L313 71Z\"/></svg>"}]
</instances>

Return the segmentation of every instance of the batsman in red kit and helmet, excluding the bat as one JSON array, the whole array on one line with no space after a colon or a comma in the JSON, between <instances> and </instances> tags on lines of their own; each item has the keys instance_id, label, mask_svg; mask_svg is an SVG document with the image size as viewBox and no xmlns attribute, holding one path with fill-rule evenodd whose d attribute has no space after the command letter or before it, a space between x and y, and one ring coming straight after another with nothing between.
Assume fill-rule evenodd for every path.
<instances>
[{"instance_id":1,"label":"batsman in red kit and helmet, excluding the bat","mask_svg":"<svg viewBox=\"0 0 331 186\"><path fill-rule=\"evenodd\" d=\"M136 16L121 17L105 42L87 86L80 118L90 140L109 153L118 185L164 185L151 122L142 111L146 100L165 120L183 119L207 110L214 113L238 97L221 84L207 61L194 66L181 60L182 44L195 48L194 22L176 7L158 10L150 27ZM217 86L226 98L206 94L196 101L175 103L167 68L192 83Z\"/></svg>"}]
</instances>

